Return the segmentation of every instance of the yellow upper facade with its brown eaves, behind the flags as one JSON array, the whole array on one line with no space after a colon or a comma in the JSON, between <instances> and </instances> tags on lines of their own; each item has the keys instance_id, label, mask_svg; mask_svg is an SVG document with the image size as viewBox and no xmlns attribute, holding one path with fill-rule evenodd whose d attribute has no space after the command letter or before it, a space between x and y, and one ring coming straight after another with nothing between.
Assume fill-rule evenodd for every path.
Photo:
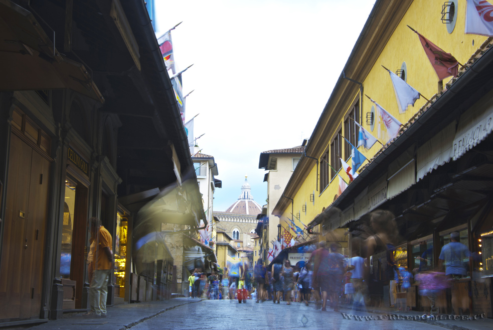
<instances>
[{"instance_id":1,"label":"yellow upper facade with its brown eaves, behind the flags","mask_svg":"<svg viewBox=\"0 0 493 330\"><path fill-rule=\"evenodd\" d=\"M350 132L345 127L345 121L348 120L348 116L355 107L361 109L359 124L367 132L377 137L377 125L381 121L377 120L374 114L375 127L373 131L371 126L367 125L366 115L370 114L372 107L375 106L365 94L402 124L413 118L418 110L427 103L421 97L414 106L410 105L404 114L399 114L389 73L382 65L396 72L401 70L404 64L406 82L428 99L441 90L439 85L445 85L452 78L450 76L439 83L418 35L409 29L408 25L445 52L451 53L459 63L467 62L478 46L486 40L484 36L464 34L466 2L458 1L456 3L458 6L455 8L455 28L452 33L448 33L448 25L440 20L442 2L427 0L376 2L344 68L344 75L361 82L363 89L360 89L359 84L345 79L341 73L306 146L306 156L301 157L283 196L280 197L273 210L273 214L281 215L281 221L289 223L287 219L292 218L291 208L293 208L293 213L299 212L300 220L307 225L337 198L339 178L330 167L328 167L328 172L330 172L328 173L328 183L325 185L320 182L321 176L323 176L321 173L324 167L323 156L327 153L330 154L332 149L336 149L335 146L331 146L331 143L338 137L343 140L340 144L342 148L338 154L351 155L351 146L339 134L350 140ZM383 144L386 144L385 142L382 141ZM367 159L371 159L381 147L382 145L377 142L370 150L363 147L358 148L358 150ZM316 160L307 156L316 158ZM343 159L351 166L351 158L343 157ZM336 163L329 162L332 167L339 169L338 174L349 183L349 177L341 168L339 158L337 158ZM363 165L367 163L368 161L365 161ZM291 197L293 201L284 196ZM292 207L291 203L293 204ZM302 212L305 204L306 211ZM294 233L292 234L294 235Z\"/></svg>"}]
</instances>

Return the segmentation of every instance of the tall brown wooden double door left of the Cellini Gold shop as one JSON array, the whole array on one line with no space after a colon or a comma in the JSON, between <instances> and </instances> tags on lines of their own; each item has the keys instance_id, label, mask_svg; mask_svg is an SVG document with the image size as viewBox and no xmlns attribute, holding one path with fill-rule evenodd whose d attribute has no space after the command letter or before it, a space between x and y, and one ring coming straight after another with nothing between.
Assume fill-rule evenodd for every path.
<instances>
[{"instance_id":1,"label":"tall brown wooden double door left of the Cellini Gold shop","mask_svg":"<svg viewBox=\"0 0 493 330\"><path fill-rule=\"evenodd\" d=\"M39 317L50 162L11 135L0 319Z\"/></svg>"}]
</instances>

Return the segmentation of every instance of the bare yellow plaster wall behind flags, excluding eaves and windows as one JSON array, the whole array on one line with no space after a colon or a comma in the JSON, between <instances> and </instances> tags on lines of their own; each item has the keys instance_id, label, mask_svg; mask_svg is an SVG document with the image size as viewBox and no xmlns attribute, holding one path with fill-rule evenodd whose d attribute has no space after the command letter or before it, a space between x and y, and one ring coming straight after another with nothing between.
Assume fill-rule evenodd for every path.
<instances>
[{"instance_id":1,"label":"bare yellow plaster wall behind flags, excluding eaves and windows","mask_svg":"<svg viewBox=\"0 0 493 330\"><path fill-rule=\"evenodd\" d=\"M389 73L382 68L384 65L392 72L395 73L397 69L401 68L403 62L406 62L407 66L407 83L417 89L428 99L431 98L438 91L438 77L426 56L423 47L419 41L418 35L412 32L406 25L411 26L420 32L423 36L428 38L438 47L442 48L446 52L450 52L459 63L466 63L470 56L476 51L476 49L486 40L486 37L479 35L466 35L464 34L464 21L465 21L465 6L466 1L458 1L457 21L455 28L451 34L447 32L447 27L440 20L440 12L442 10L443 2L429 1L429 0L415 0L409 7L407 13L399 23L394 33L388 40L385 48L378 57L375 65L370 70L369 74L363 81L364 93L372 97L378 102L386 111L392 114L402 124L405 124L411 117L413 117L425 104L425 100L420 98L416 101L415 106L409 106L404 114L399 114L397 101L395 98L392 82L389 77ZM375 37L378 39L378 37ZM472 42L474 40L474 45ZM343 60L343 59L342 59ZM345 59L344 59L345 60ZM443 85L448 82L451 77L445 78ZM330 95L327 95L327 97ZM359 92L353 95L353 100L359 97ZM370 132L373 136L377 137L377 129L372 132L370 126L366 125L366 113L371 111L373 103L364 95L363 97L363 111L362 111L362 126ZM340 117L340 124L344 130L344 117L350 111L346 109L345 113L333 114L333 116ZM376 121L377 123L377 121ZM326 134L324 132L323 134ZM330 132L328 135L334 137L336 132ZM345 134L343 132L343 134ZM332 140L332 139L331 139ZM386 141L382 141L385 143ZM349 145L344 141L343 148L348 148ZM328 145L326 146L328 148ZM377 142L370 150L366 150L360 147L358 150L363 153L368 159L372 158L381 148L381 145ZM344 153L343 153L344 154ZM314 156L314 155L313 155ZM314 156L321 157L322 155ZM367 163L367 161L365 161ZM365 164L364 163L364 164ZM351 159L348 161L351 166ZM319 167L320 168L320 167ZM327 207L332 204L334 197L338 191L339 178L336 176L330 184L326 187L318 186L318 192L316 191L317 171L316 166L310 170L310 173L302 183L301 187L293 197L293 213L300 212L301 221L304 224L308 224L313 218L322 211L322 207ZM339 171L339 174L349 182L349 178L343 169ZM323 190L322 190L323 189ZM314 205L309 201L310 194L315 190L315 202ZM302 205L306 202L306 214L302 212ZM291 216L291 204L283 210L281 223L286 222L286 218L292 218ZM294 223L301 227L296 220ZM283 227L286 224L283 223ZM293 233L292 233L293 234Z\"/></svg>"}]
</instances>

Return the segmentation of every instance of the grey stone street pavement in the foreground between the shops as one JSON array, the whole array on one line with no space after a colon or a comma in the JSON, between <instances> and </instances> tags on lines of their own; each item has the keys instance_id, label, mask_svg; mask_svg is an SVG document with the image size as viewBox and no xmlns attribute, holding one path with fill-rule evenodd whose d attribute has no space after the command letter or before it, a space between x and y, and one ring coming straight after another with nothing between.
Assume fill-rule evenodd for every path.
<instances>
[{"instance_id":1,"label":"grey stone street pavement in the foreground between the shops","mask_svg":"<svg viewBox=\"0 0 493 330\"><path fill-rule=\"evenodd\" d=\"M343 313L346 314L343 315ZM356 320L349 315L358 315ZM369 318L367 320L367 317ZM373 318L373 319L370 319ZM393 329L443 329L410 320L375 320L376 315L368 312L343 310L315 310L314 305L302 303L273 304L272 301L255 303L248 300L239 304L230 300L204 300L187 304L149 318L132 330L171 329L348 329L348 330L393 330Z\"/></svg>"}]
</instances>

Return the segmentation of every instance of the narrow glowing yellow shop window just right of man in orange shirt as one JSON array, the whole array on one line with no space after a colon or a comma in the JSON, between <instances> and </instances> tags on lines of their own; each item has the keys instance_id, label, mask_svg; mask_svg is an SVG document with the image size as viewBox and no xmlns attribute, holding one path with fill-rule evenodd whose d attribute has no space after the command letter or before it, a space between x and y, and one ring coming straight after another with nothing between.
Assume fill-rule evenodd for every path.
<instances>
[{"instance_id":1,"label":"narrow glowing yellow shop window just right of man in orange shirt","mask_svg":"<svg viewBox=\"0 0 493 330\"><path fill-rule=\"evenodd\" d=\"M119 296L125 297L125 260L127 254L128 219L123 212L116 213L115 284L120 287Z\"/></svg>"}]
</instances>

